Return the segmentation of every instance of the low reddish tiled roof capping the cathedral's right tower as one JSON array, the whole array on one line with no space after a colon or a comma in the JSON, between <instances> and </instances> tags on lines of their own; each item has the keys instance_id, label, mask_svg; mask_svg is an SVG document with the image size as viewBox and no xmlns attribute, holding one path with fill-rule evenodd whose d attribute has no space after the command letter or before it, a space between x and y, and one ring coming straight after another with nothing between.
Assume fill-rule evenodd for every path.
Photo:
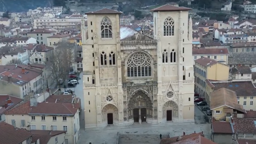
<instances>
[{"instance_id":1,"label":"low reddish tiled roof capping the cathedral's right tower","mask_svg":"<svg viewBox=\"0 0 256 144\"><path fill-rule=\"evenodd\" d=\"M170 4L165 4L160 7L155 8L155 9L152 9L150 11L157 12L157 11L189 11L189 10L192 10L192 9L186 8L186 7L177 7L177 6L173 6Z\"/></svg>"}]
</instances>

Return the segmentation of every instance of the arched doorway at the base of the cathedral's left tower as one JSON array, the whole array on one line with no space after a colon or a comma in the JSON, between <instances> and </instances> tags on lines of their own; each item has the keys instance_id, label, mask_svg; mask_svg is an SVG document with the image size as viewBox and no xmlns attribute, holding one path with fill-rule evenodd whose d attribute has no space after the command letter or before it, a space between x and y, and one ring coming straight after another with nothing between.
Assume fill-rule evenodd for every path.
<instances>
[{"instance_id":1,"label":"arched doorway at the base of the cathedral's left tower","mask_svg":"<svg viewBox=\"0 0 256 144\"><path fill-rule=\"evenodd\" d=\"M102 109L102 122L105 125L115 125L118 123L118 109L113 104L107 104Z\"/></svg>"}]
</instances>

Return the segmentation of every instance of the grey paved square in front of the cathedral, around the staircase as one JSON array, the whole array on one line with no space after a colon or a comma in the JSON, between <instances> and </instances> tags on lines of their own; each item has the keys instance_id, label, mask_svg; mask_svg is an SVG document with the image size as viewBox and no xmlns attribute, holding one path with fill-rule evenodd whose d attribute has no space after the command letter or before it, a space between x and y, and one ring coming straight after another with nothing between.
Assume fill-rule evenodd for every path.
<instances>
[{"instance_id":1,"label":"grey paved square in front of the cathedral, around the staircase","mask_svg":"<svg viewBox=\"0 0 256 144\"><path fill-rule=\"evenodd\" d=\"M179 126L158 126L158 127L140 127L140 128L124 128L113 130L84 131L80 130L80 137L77 144L102 144L104 139L106 144L116 144L117 132L120 133L136 133L136 134L167 134L170 136L181 136L183 132L186 134L204 132L207 139L211 139L211 124L195 124L195 125L179 125Z\"/></svg>"}]
</instances>

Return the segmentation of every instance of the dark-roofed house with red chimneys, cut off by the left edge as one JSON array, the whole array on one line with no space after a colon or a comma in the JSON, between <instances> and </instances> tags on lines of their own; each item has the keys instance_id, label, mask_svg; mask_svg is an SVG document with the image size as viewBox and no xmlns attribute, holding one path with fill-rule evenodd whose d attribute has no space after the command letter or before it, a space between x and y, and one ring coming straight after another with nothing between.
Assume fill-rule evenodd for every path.
<instances>
[{"instance_id":1,"label":"dark-roofed house with red chimneys, cut off by the left edge","mask_svg":"<svg viewBox=\"0 0 256 144\"><path fill-rule=\"evenodd\" d=\"M22 98L13 97L10 95L0 95L0 122L5 121L4 112L10 110L17 104L20 104L23 101Z\"/></svg>"}]
</instances>

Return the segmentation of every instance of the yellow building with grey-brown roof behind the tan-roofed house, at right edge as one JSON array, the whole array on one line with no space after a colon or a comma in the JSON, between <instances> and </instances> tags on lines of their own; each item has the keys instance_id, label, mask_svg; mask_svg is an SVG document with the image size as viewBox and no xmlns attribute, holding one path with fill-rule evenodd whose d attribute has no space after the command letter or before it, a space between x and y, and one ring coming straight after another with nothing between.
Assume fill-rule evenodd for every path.
<instances>
[{"instance_id":1,"label":"yellow building with grey-brown roof behind the tan-roofed house, at right edge","mask_svg":"<svg viewBox=\"0 0 256 144\"><path fill-rule=\"evenodd\" d=\"M236 80L231 81L214 81L214 80L205 80L206 81L206 95L211 96L211 93L214 90L219 90L221 88L226 88L236 92L236 97L238 104L243 105L245 110L256 110L256 105L254 98L256 96L256 89L250 79Z\"/></svg>"}]
</instances>

